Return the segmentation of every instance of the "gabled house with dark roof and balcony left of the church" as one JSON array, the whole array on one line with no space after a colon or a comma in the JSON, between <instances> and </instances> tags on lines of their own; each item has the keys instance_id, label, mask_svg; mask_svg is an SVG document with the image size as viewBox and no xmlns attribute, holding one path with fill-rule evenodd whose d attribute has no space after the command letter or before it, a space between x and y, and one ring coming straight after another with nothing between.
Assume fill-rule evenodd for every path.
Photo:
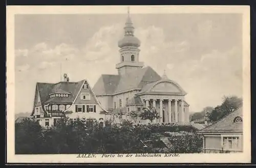
<instances>
[{"instance_id":1,"label":"gabled house with dark roof and balcony left of the church","mask_svg":"<svg viewBox=\"0 0 256 168\"><path fill-rule=\"evenodd\" d=\"M54 126L61 118L105 122L107 111L100 105L86 79L70 82L67 74L58 83L36 83L32 120Z\"/></svg>"}]
</instances>

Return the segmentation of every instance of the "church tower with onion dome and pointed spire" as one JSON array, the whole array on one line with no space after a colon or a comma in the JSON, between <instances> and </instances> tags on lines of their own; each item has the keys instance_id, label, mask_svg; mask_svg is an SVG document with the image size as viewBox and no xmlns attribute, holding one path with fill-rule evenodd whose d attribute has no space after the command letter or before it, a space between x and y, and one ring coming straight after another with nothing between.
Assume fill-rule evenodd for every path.
<instances>
[{"instance_id":1,"label":"church tower with onion dome and pointed spire","mask_svg":"<svg viewBox=\"0 0 256 168\"><path fill-rule=\"evenodd\" d=\"M118 41L118 47L120 48L120 63L116 64L116 69L118 69L119 75L125 75L143 67L143 63L139 62L140 41L134 36L134 26L129 8L124 26L124 37Z\"/></svg>"}]
</instances>

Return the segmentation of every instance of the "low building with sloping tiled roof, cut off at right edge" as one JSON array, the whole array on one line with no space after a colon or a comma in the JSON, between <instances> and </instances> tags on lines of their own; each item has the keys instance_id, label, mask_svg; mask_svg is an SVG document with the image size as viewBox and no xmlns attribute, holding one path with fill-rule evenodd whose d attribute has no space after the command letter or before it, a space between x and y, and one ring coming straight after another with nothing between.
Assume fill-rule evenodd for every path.
<instances>
[{"instance_id":1,"label":"low building with sloping tiled roof, cut off at right edge","mask_svg":"<svg viewBox=\"0 0 256 168\"><path fill-rule=\"evenodd\" d=\"M203 153L243 151L242 107L198 131L203 135Z\"/></svg>"}]
</instances>

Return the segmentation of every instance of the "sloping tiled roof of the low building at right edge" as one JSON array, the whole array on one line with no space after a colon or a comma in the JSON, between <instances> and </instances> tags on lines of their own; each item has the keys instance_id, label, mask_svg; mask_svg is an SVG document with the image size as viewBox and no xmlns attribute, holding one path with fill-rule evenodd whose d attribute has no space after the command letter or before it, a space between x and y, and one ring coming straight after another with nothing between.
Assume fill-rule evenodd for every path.
<instances>
[{"instance_id":1,"label":"sloping tiled roof of the low building at right edge","mask_svg":"<svg viewBox=\"0 0 256 168\"><path fill-rule=\"evenodd\" d=\"M243 132L243 122L234 123L234 118L241 117L243 118L242 107L233 111L232 113L221 118L217 122L205 127L204 129L198 131L199 133L218 133L218 132Z\"/></svg>"}]
</instances>

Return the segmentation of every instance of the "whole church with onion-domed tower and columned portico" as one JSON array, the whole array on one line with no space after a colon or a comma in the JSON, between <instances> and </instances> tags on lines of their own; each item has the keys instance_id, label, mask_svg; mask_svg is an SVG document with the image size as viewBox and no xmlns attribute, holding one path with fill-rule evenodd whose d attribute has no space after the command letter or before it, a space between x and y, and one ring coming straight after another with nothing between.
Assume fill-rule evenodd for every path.
<instances>
[{"instance_id":1,"label":"whole church with onion-domed tower and columned portico","mask_svg":"<svg viewBox=\"0 0 256 168\"><path fill-rule=\"evenodd\" d=\"M189 104L186 92L164 73L160 76L139 60L140 40L134 36L135 28L128 11L124 37L118 41L120 62L118 74L102 74L93 91L109 114L142 112L143 107L155 107L159 118L154 123L189 123Z\"/></svg>"}]
</instances>

